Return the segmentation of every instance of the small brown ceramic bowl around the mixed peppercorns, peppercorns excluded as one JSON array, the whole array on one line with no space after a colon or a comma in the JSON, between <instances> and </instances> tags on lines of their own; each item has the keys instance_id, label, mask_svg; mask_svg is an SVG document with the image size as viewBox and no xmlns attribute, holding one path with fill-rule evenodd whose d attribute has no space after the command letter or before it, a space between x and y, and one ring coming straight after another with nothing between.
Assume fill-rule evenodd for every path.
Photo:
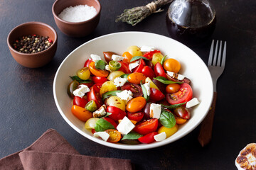
<instances>
[{"instance_id":1,"label":"small brown ceramic bowl around the mixed peppercorns, peppercorns excluded","mask_svg":"<svg viewBox=\"0 0 256 170\"><path fill-rule=\"evenodd\" d=\"M48 36L51 40L53 40L53 44L47 50L43 50L38 53L21 53L12 47L15 40L22 36L26 35L41 35ZM23 23L19 26L16 26L8 35L7 44L11 55L14 57L16 62L28 68L37 68L42 67L43 65L50 62L53 59L55 52L57 50L57 33L56 31L46 23L41 22L28 22Z\"/></svg>"}]
</instances>

